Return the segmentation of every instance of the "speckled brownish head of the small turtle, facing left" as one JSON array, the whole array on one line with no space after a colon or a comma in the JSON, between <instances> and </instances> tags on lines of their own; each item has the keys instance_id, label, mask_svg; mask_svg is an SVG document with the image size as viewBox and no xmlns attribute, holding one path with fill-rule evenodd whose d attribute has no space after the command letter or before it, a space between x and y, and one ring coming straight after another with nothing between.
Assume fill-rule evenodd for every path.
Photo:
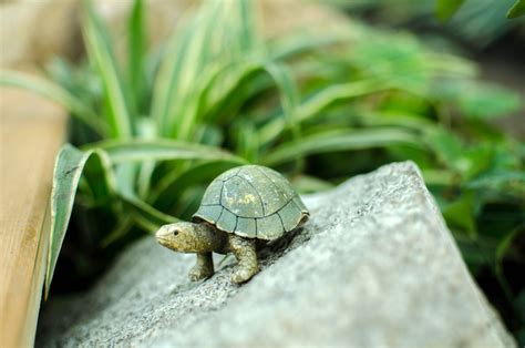
<instances>
[{"instance_id":1,"label":"speckled brownish head of the small turtle, facing left","mask_svg":"<svg viewBox=\"0 0 525 348\"><path fill-rule=\"evenodd\" d=\"M157 242L168 249L181 253L213 252L215 232L213 228L194 223L175 223L162 226L156 233Z\"/></svg>"}]
</instances>

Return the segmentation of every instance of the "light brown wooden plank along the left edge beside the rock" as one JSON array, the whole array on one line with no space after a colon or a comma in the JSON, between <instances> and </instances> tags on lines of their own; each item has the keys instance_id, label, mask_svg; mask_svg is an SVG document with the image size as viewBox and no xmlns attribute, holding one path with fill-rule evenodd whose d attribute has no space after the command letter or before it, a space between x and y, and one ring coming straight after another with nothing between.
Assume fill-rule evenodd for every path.
<instances>
[{"instance_id":1,"label":"light brown wooden plank along the left edge beside the rock","mask_svg":"<svg viewBox=\"0 0 525 348\"><path fill-rule=\"evenodd\" d=\"M25 91L0 89L0 342L32 346L42 295L54 157L65 113Z\"/></svg>"}]
</instances>

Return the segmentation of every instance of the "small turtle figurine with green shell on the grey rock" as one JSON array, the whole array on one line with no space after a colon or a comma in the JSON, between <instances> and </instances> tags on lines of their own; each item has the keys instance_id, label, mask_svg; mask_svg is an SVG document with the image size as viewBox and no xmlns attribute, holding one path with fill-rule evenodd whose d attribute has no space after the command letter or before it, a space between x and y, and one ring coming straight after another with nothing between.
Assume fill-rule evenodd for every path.
<instances>
[{"instance_id":1,"label":"small turtle figurine with green shell on the grey rock","mask_svg":"<svg viewBox=\"0 0 525 348\"><path fill-rule=\"evenodd\" d=\"M258 269L257 250L302 226L310 213L290 183L260 165L243 165L218 175L206 188L192 222L162 226L157 242L175 252L195 253L189 279L214 274L212 253L231 253L231 282L249 280Z\"/></svg>"}]
</instances>

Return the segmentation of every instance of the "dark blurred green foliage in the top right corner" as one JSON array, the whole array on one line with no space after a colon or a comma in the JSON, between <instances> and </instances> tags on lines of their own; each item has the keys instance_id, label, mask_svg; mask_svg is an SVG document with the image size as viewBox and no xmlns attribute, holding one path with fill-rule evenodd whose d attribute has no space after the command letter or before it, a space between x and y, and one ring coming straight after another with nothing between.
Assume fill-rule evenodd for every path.
<instances>
[{"instance_id":1,"label":"dark blurred green foliage in the top right corner","mask_svg":"<svg viewBox=\"0 0 525 348\"><path fill-rule=\"evenodd\" d=\"M325 3L326 1L320 1ZM352 16L379 24L444 31L474 49L483 49L525 25L525 0L329 0Z\"/></svg>"}]
</instances>

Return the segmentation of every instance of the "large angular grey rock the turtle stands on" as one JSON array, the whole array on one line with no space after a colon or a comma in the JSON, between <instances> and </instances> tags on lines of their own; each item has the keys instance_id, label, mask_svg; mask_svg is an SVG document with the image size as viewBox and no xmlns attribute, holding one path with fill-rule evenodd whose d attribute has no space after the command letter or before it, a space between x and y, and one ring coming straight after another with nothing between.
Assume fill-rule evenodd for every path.
<instances>
[{"instance_id":1,"label":"large angular grey rock the turtle stands on","mask_svg":"<svg viewBox=\"0 0 525 348\"><path fill-rule=\"evenodd\" d=\"M416 166L391 164L305 197L311 221L192 284L193 255L146 237L87 294L48 306L39 346L515 346L470 276Z\"/></svg>"}]
</instances>

